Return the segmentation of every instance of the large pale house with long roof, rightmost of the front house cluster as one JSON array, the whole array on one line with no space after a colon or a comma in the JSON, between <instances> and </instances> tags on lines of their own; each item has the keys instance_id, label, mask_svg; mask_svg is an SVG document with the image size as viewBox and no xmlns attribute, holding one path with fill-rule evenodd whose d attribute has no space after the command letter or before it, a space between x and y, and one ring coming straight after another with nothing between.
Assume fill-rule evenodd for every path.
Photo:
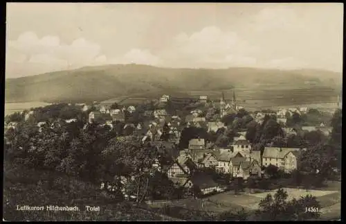
<instances>
[{"instance_id":1,"label":"large pale house with long roof, rightmost of the front house cluster","mask_svg":"<svg viewBox=\"0 0 346 224\"><path fill-rule=\"evenodd\" d=\"M276 148L265 147L262 155L262 166L277 166L289 173L297 169L297 158L294 151L300 151L300 148Z\"/></svg>"}]
</instances>

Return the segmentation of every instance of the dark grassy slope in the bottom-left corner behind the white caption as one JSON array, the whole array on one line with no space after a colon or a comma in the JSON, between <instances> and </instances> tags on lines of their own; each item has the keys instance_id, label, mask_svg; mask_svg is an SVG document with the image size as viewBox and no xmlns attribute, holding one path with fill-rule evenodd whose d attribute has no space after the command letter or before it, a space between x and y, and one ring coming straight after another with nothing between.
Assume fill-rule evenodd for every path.
<instances>
[{"instance_id":1,"label":"dark grassy slope in the bottom-left corner behind the white caption","mask_svg":"<svg viewBox=\"0 0 346 224\"><path fill-rule=\"evenodd\" d=\"M60 173L14 169L6 165L4 175L3 218L6 221L163 221L165 219L129 203L107 200L95 185ZM51 184L49 180L52 180ZM80 212L16 211L17 205L78 206ZM100 212L86 212L85 205L100 206Z\"/></svg>"}]
</instances>

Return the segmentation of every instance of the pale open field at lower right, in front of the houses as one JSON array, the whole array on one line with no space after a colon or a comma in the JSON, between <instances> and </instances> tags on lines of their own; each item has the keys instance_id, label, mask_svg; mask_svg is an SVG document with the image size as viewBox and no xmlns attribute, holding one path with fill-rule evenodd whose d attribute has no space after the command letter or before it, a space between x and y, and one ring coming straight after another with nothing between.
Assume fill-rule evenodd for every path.
<instances>
[{"instance_id":1,"label":"pale open field at lower right, in front of the houses","mask_svg":"<svg viewBox=\"0 0 346 224\"><path fill-rule=\"evenodd\" d=\"M305 189L285 188L289 193L289 200L292 198L300 198L307 194L316 196L322 207L322 215L320 219L331 219L340 217L340 182L327 182L327 186L321 189L313 189L306 191ZM246 189L247 191L247 189ZM262 193L242 193L235 195L233 191L218 193L203 199L183 199L167 201L167 203L158 203L150 205L153 208L164 207L181 207L182 209L190 209L194 211L208 212L209 214L220 214L228 211L239 211L244 208L251 212L258 208L260 200L266 197L268 193L274 196L276 190Z\"/></svg>"}]
</instances>

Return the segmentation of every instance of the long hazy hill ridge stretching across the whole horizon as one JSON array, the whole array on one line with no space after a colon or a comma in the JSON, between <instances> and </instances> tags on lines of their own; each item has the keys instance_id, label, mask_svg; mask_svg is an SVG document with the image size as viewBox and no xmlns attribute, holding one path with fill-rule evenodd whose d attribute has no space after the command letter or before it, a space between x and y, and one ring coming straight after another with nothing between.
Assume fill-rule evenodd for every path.
<instances>
[{"instance_id":1,"label":"long hazy hill ridge stretching across the whole horizon","mask_svg":"<svg viewBox=\"0 0 346 224\"><path fill-rule=\"evenodd\" d=\"M8 79L6 102L102 101L128 94L192 90L219 92L220 89L231 89L233 86L252 90L272 87L296 89L306 86L305 80L316 77L322 80L334 78L336 83L340 83L337 80L341 76L320 70L168 69L140 64L115 64ZM331 82L320 82L319 86L322 85L330 86ZM251 95L256 96L257 92ZM330 93L327 95L330 96ZM262 98L267 96L264 92Z\"/></svg>"}]
</instances>

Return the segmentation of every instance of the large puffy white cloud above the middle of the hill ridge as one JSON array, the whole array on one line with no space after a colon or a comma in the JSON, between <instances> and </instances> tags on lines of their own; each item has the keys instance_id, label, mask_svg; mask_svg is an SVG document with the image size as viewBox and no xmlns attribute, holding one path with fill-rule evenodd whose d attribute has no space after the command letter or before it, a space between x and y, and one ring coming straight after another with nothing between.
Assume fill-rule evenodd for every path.
<instances>
[{"instance_id":1,"label":"large puffy white cloud above the middle of the hill ridge","mask_svg":"<svg viewBox=\"0 0 346 224\"><path fill-rule=\"evenodd\" d=\"M172 46L165 50L162 58L168 64L175 62L178 67L181 64L188 67L247 66L255 60L249 56L254 51L257 51L257 47L248 44L237 33L225 32L216 26L207 26L191 35L176 35Z\"/></svg>"}]
</instances>

